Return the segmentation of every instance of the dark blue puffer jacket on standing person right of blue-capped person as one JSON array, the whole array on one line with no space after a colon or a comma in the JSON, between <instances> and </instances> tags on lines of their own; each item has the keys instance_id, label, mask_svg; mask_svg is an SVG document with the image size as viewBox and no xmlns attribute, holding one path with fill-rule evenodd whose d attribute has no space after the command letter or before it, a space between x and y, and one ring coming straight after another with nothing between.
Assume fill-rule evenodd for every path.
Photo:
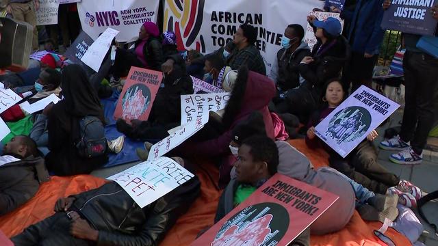
<instances>
[{"instance_id":1,"label":"dark blue puffer jacket on standing person right of blue-capped person","mask_svg":"<svg viewBox=\"0 0 438 246\"><path fill-rule=\"evenodd\" d=\"M348 40L357 53L379 53L385 30L381 28L383 0L358 0L354 12L344 10L341 18L350 22Z\"/></svg>"}]
</instances>

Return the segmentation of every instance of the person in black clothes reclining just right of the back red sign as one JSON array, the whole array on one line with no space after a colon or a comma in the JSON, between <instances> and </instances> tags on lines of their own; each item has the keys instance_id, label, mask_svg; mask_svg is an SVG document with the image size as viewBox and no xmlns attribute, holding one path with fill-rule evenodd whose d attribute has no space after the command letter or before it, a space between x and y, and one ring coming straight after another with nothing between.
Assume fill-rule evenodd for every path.
<instances>
[{"instance_id":1,"label":"person in black clothes reclining just right of the back red sign","mask_svg":"<svg viewBox=\"0 0 438 246\"><path fill-rule=\"evenodd\" d=\"M151 114L146 121L131 120L131 125L125 120L117 120L116 126L120 133L132 139L164 139L168 130L181 123L181 95L193 94L192 79L179 65L164 77L162 87L152 105ZM147 156L147 154L146 154Z\"/></svg>"}]
</instances>

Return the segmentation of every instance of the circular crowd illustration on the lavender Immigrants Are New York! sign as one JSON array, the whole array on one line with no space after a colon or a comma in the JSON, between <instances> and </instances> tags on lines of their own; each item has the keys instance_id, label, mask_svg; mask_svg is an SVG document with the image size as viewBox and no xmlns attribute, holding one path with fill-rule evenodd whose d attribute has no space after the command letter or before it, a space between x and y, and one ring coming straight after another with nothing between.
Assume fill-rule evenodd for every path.
<instances>
[{"instance_id":1,"label":"circular crowd illustration on the lavender Immigrants Are New York! sign","mask_svg":"<svg viewBox=\"0 0 438 246\"><path fill-rule=\"evenodd\" d=\"M348 107L331 119L326 136L337 144L349 142L366 133L371 124L371 115L363 107Z\"/></svg>"}]
</instances>

